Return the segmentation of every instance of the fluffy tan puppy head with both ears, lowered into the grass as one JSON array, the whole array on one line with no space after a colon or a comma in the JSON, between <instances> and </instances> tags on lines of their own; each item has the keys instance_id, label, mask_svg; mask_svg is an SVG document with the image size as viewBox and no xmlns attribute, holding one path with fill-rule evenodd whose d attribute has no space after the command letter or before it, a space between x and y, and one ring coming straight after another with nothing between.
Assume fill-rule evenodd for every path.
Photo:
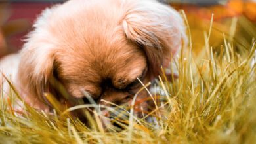
<instances>
[{"instance_id":1,"label":"fluffy tan puppy head with both ears, lowered into the grass","mask_svg":"<svg viewBox=\"0 0 256 144\"><path fill-rule=\"evenodd\" d=\"M83 91L102 105L108 105L102 99L129 103L141 88L137 78L147 83L157 77L182 41L186 36L181 16L157 1L70 0L37 18L18 54L13 81L26 103L45 111L52 108L45 93L63 101L51 84L53 78L85 103ZM144 91L137 100L147 97Z\"/></svg>"}]
</instances>

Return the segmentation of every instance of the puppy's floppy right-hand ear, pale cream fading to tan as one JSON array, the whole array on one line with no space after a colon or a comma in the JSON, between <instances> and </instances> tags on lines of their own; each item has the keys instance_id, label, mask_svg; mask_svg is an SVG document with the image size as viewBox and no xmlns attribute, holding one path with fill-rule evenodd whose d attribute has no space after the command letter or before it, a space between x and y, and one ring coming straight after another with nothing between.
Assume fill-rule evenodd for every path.
<instances>
[{"instance_id":1,"label":"puppy's floppy right-hand ear, pale cream fading to tan","mask_svg":"<svg viewBox=\"0 0 256 144\"><path fill-rule=\"evenodd\" d=\"M127 39L140 45L152 73L169 66L171 54L186 45L186 33L179 13L157 1L125 1L123 29Z\"/></svg>"}]
</instances>

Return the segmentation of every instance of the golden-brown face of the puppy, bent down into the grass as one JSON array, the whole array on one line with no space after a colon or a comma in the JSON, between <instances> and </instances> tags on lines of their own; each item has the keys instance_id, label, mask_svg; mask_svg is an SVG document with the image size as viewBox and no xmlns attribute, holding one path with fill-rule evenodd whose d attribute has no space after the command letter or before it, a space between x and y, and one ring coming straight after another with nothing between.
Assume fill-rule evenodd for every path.
<instances>
[{"instance_id":1,"label":"golden-brown face of the puppy, bent down into the grass","mask_svg":"<svg viewBox=\"0 0 256 144\"><path fill-rule=\"evenodd\" d=\"M98 103L104 99L121 104L133 98L140 88L137 78L150 81L144 51L127 41L124 33L112 35L111 39L96 35L85 45L56 52L55 77L71 96L83 98L85 91Z\"/></svg>"}]
</instances>

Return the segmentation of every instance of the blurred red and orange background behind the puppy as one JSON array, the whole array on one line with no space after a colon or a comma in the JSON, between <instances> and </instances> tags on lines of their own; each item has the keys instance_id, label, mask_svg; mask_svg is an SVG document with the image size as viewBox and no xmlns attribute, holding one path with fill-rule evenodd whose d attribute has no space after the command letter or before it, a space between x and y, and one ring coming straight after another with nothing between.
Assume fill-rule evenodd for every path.
<instances>
[{"instance_id":1,"label":"blurred red and orange background behind the puppy","mask_svg":"<svg viewBox=\"0 0 256 144\"><path fill-rule=\"evenodd\" d=\"M256 0L159 0L184 10L192 35L193 50L199 52L205 46L205 33L213 16L209 45L218 49L226 39L236 50L248 50L256 37ZM63 3L63 0L0 0L0 58L18 52L22 39L43 9ZM68 12L68 11L67 11Z\"/></svg>"}]
</instances>

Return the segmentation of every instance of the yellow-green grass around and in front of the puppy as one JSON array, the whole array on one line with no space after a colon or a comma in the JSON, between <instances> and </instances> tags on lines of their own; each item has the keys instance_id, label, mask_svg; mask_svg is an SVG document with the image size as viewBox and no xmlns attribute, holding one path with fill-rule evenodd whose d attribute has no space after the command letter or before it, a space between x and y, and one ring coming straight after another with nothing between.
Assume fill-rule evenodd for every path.
<instances>
[{"instance_id":1,"label":"yellow-green grass around and in front of the puppy","mask_svg":"<svg viewBox=\"0 0 256 144\"><path fill-rule=\"evenodd\" d=\"M0 100L0 143L255 143L256 69L251 62L256 41L242 54L233 41L225 39L218 50L208 41L205 33L200 54L193 54L192 43L182 50L173 67L179 79L163 82L165 77L161 77L161 103L144 115L154 118L152 122L133 117L132 107L127 109L128 125L121 132L104 131L97 111L88 116L88 128L63 113L65 109L51 95L47 98L55 105L55 113L26 105L27 113L20 116L12 110L16 96L12 92L9 101Z\"/></svg>"}]
</instances>

